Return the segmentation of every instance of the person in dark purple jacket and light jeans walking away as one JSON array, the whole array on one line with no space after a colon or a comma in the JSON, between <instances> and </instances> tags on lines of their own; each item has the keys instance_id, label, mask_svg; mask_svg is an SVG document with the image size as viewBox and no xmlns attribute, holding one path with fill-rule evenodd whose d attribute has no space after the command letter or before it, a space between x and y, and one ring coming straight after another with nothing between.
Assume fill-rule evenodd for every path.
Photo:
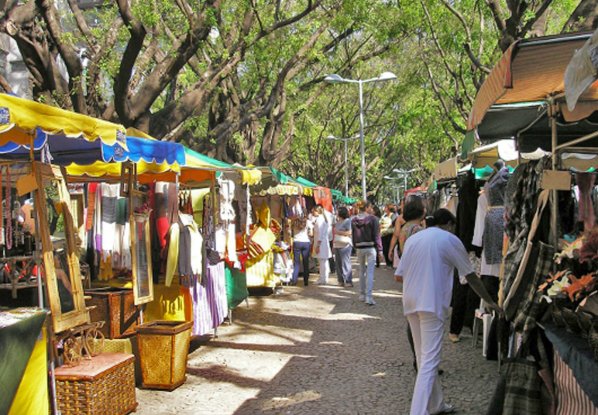
<instances>
[{"instance_id":1,"label":"person in dark purple jacket and light jeans walking away","mask_svg":"<svg viewBox=\"0 0 598 415\"><path fill-rule=\"evenodd\" d=\"M372 298L374 285L374 266L376 255L382 260L382 239L380 239L380 225L378 218L368 210L371 203L359 201L355 204L358 214L351 219L353 246L357 251L359 262L359 300L368 305L376 305ZM367 269L366 269L367 266Z\"/></svg>"}]
</instances>

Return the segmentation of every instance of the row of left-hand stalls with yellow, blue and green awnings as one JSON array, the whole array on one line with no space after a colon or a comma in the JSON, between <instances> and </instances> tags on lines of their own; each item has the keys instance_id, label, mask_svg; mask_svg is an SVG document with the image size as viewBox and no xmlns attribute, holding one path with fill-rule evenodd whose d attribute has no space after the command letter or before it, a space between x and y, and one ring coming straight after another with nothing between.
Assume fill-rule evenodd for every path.
<instances>
[{"instance_id":1,"label":"row of left-hand stalls with yellow, blue and green awnings","mask_svg":"<svg viewBox=\"0 0 598 415\"><path fill-rule=\"evenodd\" d=\"M191 336L215 331L248 288L288 281L290 221L347 202L7 94L0 188L0 413L126 413L133 361L142 385L180 385ZM77 395L90 379L111 386Z\"/></svg>"}]
</instances>

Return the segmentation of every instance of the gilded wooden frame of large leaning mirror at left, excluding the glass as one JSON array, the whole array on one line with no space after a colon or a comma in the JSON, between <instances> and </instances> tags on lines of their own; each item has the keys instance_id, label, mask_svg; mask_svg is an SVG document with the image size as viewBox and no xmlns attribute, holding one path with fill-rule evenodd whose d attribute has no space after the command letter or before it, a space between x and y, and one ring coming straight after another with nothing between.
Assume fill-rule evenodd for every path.
<instances>
[{"instance_id":1,"label":"gilded wooden frame of large leaning mirror at left, excluding the glass","mask_svg":"<svg viewBox=\"0 0 598 415\"><path fill-rule=\"evenodd\" d=\"M39 220L39 238L42 242L42 262L44 265L48 302L50 303L54 332L60 333L90 321L89 312L86 309L83 296L79 259L76 254L76 230L71 214L71 200L69 192L66 189L66 180L60 167L41 162L33 162L33 172L37 184L37 189L35 190L35 204ZM69 268L69 279L71 280L74 303L74 309L65 313L62 312L60 306L56 267L54 266L54 246L50 238L50 225L46 214L48 207L45 201L44 182L47 182L47 180L52 180L56 183L59 193L60 210L62 211L61 213L64 219L66 263Z\"/></svg>"}]
</instances>

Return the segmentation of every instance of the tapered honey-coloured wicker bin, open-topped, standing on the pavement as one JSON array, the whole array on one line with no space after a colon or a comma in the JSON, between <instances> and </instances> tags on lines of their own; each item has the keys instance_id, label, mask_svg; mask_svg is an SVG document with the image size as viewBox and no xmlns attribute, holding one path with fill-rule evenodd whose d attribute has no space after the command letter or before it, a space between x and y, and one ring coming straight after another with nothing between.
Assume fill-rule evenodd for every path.
<instances>
[{"instance_id":1,"label":"tapered honey-coloured wicker bin, open-topped, standing on the pavement","mask_svg":"<svg viewBox=\"0 0 598 415\"><path fill-rule=\"evenodd\" d=\"M152 321L137 328L142 386L172 391L187 380L191 322Z\"/></svg>"}]
</instances>

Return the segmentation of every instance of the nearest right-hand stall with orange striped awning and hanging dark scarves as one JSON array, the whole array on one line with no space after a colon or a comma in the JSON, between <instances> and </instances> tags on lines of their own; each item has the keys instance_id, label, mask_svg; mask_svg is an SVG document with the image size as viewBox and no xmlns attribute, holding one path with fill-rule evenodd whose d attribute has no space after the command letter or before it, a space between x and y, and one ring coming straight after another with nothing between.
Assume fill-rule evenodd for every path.
<instances>
[{"instance_id":1,"label":"nearest right-hand stall with orange striped awning and hanging dark scarves","mask_svg":"<svg viewBox=\"0 0 598 415\"><path fill-rule=\"evenodd\" d=\"M591 261L575 259L574 254L566 254L568 259L558 263L553 261L553 253L563 247L569 247L563 252L574 250L568 241L590 242L588 232L595 225L593 173L579 170L594 167L598 89L590 82L590 88L579 93L578 106L573 108L566 105L563 85L573 54L590 37L591 33L570 33L515 42L484 82L469 115L464 152L471 149L476 137L482 142L515 137L520 152L540 147L552 155L519 165L507 185L508 246L501 270L506 325L504 337L499 337L502 357L524 359L542 349L535 340L537 322L554 319L557 325L566 327L563 316L579 311L592 291L589 287L595 269ZM555 299L550 298L553 294ZM556 301L559 296L568 300ZM579 387L587 379L575 370L574 377L566 375L573 367L568 367L569 358L561 359L559 336L554 331L549 334L548 326L545 334L554 343L557 410L579 413L577 405L588 392L573 400L566 394L571 391L569 385ZM576 334L591 338L587 331ZM536 361L542 363L541 358ZM564 365L558 363L563 361ZM514 374L514 365L505 366L505 371ZM596 407L590 407L584 413L595 413Z\"/></svg>"}]
</instances>

